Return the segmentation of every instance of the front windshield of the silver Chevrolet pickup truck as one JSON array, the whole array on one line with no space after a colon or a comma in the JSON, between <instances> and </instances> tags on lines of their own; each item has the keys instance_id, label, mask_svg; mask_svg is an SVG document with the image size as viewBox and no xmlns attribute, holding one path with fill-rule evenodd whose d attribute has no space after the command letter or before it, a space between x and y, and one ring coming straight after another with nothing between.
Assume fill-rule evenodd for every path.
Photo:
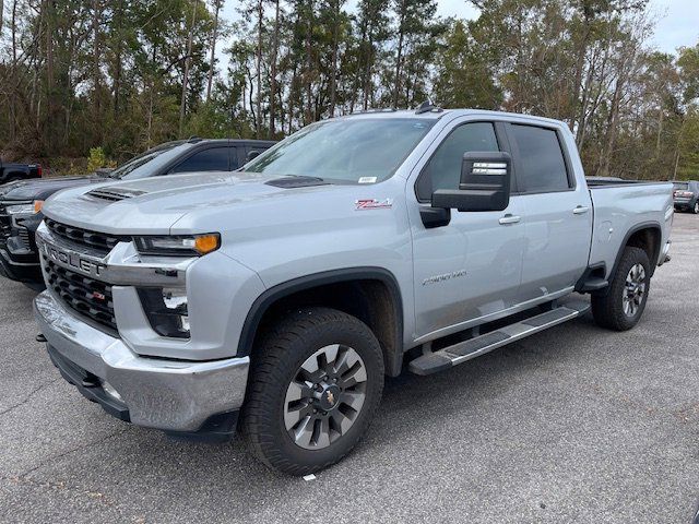
<instances>
[{"instance_id":1,"label":"front windshield of the silver Chevrolet pickup truck","mask_svg":"<svg viewBox=\"0 0 699 524\"><path fill-rule=\"evenodd\" d=\"M245 166L246 171L351 183L391 177L434 120L342 119L301 129Z\"/></svg>"}]
</instances>

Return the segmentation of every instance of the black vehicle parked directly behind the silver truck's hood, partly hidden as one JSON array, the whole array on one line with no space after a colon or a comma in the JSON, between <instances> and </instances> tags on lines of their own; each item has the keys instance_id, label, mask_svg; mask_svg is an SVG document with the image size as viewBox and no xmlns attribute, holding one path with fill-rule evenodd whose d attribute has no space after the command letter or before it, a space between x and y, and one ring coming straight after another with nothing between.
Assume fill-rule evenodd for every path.
<instances>
[{"instance_id":1,"label":"black vehicle parked directly behind the silver truck's hood, partly hidden","mask_svg":"<svg viewBox=\"0 0 699 524\"><path fill-rule=\"evenodd\" d=\"M61 189L108 179L175 175L192 171L233 171L274 145L262 140L204 140L193 138L161 144L131 158L106 176L26 180L0 188L0 274L33 289L44 279L34 234L42 223L44 200Z\"/></svg>"}]
</instances>

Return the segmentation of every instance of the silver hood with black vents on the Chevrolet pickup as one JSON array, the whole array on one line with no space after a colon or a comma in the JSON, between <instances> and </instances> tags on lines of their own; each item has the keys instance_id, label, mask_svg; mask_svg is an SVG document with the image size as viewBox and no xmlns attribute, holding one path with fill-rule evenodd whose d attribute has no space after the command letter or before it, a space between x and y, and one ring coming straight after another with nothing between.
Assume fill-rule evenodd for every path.
<instances>
[{"instance_id":1,"label":"silver hood with black vents on the Chevrolet pickup","mask_svg":"<svg viewBox=\"0 0 699 524\"><path fill-rule=\"evenodd\" d=\"M43 212L49 218L84 229L166 235L188 214L332 187L321 186L320 181L291 189L265 183L280 178L226 171L111 181L62 191L47 200Z\"/></svg>"}]
</instances>

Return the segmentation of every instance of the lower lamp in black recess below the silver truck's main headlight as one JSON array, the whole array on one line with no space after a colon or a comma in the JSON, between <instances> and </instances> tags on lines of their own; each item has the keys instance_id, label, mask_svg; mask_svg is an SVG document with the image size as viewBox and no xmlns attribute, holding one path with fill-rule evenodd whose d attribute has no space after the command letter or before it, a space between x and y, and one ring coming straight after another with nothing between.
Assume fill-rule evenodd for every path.
<instances>
[{"instance_id":1,"label":"lower lamp in black recess below the silver truck's main headlight","mask_svg":"<svg viewBox=\"0 0 699 524\"><path fill-rule=\"evenodd\" d=\"M162 336L189 338L185 288L141 288L139 295L153 331Z\"/></svg>"}]
</instances>

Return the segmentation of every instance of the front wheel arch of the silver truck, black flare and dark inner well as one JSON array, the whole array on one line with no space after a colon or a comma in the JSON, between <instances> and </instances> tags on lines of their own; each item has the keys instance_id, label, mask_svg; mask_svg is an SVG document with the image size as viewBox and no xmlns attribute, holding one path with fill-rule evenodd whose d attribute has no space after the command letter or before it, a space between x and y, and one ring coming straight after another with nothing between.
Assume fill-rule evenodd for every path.
<instances>
[{"instance_id":1,"label":"front wheel arch of the silver truck, black flare and dark inner well","mask_svg":"<svg viewBox=\"0 0 699 524\"><path fill-rule=\"evenodd\" d=\"M365 322L381 344L386 373L391 377L400 374L403 364L403 301L398 279L382 267L325 271L266 289L246 315L238 356L251 355L265 325L285 311L300 306L331 307Z\"/></svg>"}]
</instances>

